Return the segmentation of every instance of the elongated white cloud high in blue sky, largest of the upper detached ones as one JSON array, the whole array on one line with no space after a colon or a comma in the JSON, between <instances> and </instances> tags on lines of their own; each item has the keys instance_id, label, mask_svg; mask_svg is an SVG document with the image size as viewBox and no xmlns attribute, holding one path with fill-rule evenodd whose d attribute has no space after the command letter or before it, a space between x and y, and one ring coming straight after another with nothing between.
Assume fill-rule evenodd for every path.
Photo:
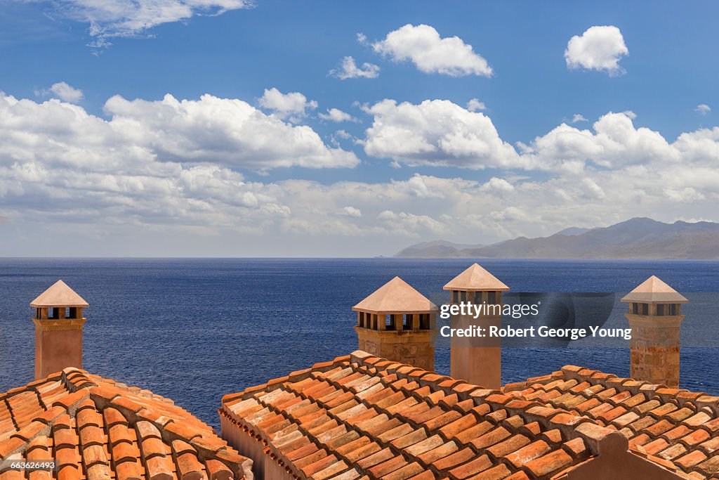
<instances>
[{"instance_id":1,"label":"elongated white cloud high in blue sky, largest of the upper detached ones","mask_svg":"<svg viewBox=\"0 0 719 480\"><path fill-rule=\"evenodd\" d=\"M397 62L410 60L423 73L492 76L487 60L459 37L440 37L430 25L406 24L372 44L375 52Z\"/></svg>"}]
</instances>

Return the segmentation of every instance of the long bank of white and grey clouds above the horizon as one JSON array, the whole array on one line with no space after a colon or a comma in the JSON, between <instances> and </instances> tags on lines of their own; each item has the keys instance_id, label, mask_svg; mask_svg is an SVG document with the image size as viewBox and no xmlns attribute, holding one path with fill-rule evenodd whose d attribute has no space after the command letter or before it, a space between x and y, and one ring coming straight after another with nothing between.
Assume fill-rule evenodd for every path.
<instances>
[{"instance_id":1,"label":"long bank of white and grey clouds above the horizon","mask_svg":"<svg viewBox=\"0 0 719 480\"><path fill-rule=\"evenodd\" d=\"M436 173L402 168L388 181L321 183L248 180L244 170L352 168L359 159L245 101L114 96L104 110L106 118L58 100L0 96L4 251L24 253L43 239L64 245L58 255L186 240L195 250L175 253L217 242L228 255L282 245L290 254L376 255L409 240L490 243L647 214L715 219L719 201L719 127L669 140L630 112L511 145L482 112L385 99L365 109L365 153ZM484 179L462 178L462 168L484 170Z\"/></svg>"}]
</instances>

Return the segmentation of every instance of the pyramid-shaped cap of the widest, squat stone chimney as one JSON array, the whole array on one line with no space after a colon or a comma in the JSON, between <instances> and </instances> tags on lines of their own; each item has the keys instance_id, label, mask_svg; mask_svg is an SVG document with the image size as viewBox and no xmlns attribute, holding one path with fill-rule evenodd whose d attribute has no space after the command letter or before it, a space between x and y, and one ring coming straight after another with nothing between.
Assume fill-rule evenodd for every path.
<instances>
[{"instance_id":1,"label":"pyramid-shaped cap of the widest, squat stone chimney","mask_svg":"<svg viewBox=\"0 0 719 480\"><path fill-rule=\"evenodd\" d=\"M406 281L395 276L352 309L355 312L385 315L435 312L437 306Z\"/></svg>"}]
</instances>

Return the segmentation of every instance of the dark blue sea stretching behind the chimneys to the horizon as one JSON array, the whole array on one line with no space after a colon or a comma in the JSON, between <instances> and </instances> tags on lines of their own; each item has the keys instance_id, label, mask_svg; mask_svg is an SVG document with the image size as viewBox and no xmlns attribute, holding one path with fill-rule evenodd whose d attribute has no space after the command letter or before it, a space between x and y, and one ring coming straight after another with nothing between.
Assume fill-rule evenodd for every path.
<instances>
[{"instance_id":1,"label":"dark blue sea stretching behind the chimneys to the horizon","mask_svg":"<svg viewBox=\"0 0 719 480\"><path fill-rule=\"evenodd\" d=\"M0 391L33 379L29 302L58 279L88 301L84 367L175 400L217 426L222 395L357 348L354 304L398 275L435 303L467 260L0 259ZM681 386L719 394L719 262L482 260L521 292L613 292L606 326L626 327L621 294L651 275L684 307ZM582 316L582 308L577 309ZM580 319L581 320L581 319ZM503 381L566 364L628 376L628 342L503 348ZM449 341L436 369L449 373Z\"/></svg>"}]
</instances>

